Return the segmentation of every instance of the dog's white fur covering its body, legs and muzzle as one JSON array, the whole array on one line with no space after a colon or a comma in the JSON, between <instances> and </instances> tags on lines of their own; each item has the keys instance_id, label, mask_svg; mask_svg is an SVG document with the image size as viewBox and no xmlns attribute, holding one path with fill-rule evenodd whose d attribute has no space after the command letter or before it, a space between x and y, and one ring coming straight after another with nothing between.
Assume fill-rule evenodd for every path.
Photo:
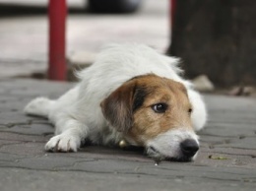
<instances>
[{"instance_id":1,"label":"dog's white fur covering its body, legs and muzzle","mask_svg":"<svg viewBox=\"0 0 256 191\"><path fill-rule=\"evenodd\" d=\"M26 106L25 112L48 117L55 124L55 136L45 145L46 151L76 152L87 138L96 144L117 144L123 135L109 127L100 102L129 79L156 74L185 86L193 106L192 124L198 131L206 123L206 107L190 82L179 76L181 70L177 64L178 59L161 55L142 44L111 44L102 50L91 67L79 73L81 82L75 88L56 100L37 97ZM171 152L175 155L177 144L186 138L198 142L194 132L176 130L159 135L146 145L153 145L171 157L168 146L172 145ZM133 140L128 142L136 145Z\"/></svg>"}]
</instances>

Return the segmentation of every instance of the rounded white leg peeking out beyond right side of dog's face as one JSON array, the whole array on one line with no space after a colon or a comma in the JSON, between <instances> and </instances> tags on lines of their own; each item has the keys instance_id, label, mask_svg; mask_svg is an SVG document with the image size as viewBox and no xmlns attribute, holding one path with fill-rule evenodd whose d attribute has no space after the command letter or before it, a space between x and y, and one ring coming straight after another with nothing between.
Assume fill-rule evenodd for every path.
<instances>
[{"instance_id":1,"label":"rounded white leg peeking out beyond right side of dog's face","mask_svg":"<svg viewBox=\"0 0 256 191\"><path fill-rule=\"evenodd\" d=\"M193 107L191 114L192 124L196 131L201 130L207 121L207 109L203 98L199 93L188 90L188 96Z\"/></svg>"}]
</instances>

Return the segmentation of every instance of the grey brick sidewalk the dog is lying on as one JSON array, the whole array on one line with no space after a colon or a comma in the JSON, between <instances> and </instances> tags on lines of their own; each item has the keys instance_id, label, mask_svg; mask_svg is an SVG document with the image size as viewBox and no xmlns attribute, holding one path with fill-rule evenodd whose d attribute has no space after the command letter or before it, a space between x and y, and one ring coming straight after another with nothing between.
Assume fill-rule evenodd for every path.
<instances>
[{"instance_id":1,"label":"grey brick sidewalk the dog is lying on","mask_svg":"<svg viewBox=\"0 0 256 191\"><path fill-rule=\"evenodd\" d=\"M256 186L256 99L205 96L210 111L194 162L154 165L140 151L89 146L45 153L52 126L26 116L35 96L57 97L73 85L0 81L0 187L9 190L253 190Z\"/></svg>"}]
</instances>

